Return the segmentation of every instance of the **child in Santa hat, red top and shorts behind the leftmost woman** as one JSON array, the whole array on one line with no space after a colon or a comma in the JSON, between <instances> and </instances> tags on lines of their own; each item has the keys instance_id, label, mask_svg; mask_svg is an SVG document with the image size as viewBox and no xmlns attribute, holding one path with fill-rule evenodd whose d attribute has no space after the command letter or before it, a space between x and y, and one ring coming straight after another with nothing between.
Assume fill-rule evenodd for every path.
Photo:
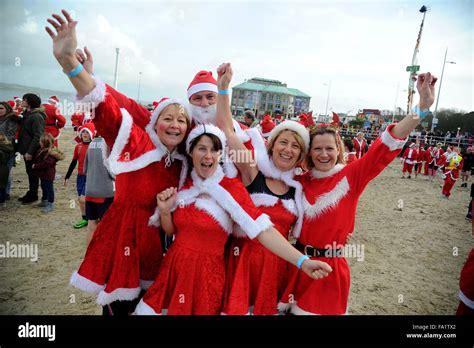
<instances>
[{"instance_id":1,"label":"child in Santa hat, red top and shorts behind the leftmost woman","mask_svg":"<svg viewBox=\"0 0 474 348\"><path fill-rule=\"evenodd\" d=\"M79 129L79 136L81 142L76 145L74 148L74 155L72 157L71 164L64 178L64 186L67 186L69 178L72 175L72 172L76 168L76 165L79 164L77 168L77 195L79 196L79 206L81 208L82 218L78 223L74 225L74 228L79 229L87 226L87 217L86 217L86 175L84 173L84 161L87 154L87 149L92 139L94 138L95 126L92 122L84 124Z\"/></svg>"}]
</instances>

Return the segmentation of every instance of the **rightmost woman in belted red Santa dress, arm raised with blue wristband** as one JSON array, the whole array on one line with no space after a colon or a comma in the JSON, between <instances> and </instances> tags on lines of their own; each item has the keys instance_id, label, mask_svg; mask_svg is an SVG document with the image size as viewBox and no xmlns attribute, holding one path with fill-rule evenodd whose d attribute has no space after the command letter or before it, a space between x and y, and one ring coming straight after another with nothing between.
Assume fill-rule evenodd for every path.
<instances>
[{"instance_id":1,"label":"rightmost woman in belted red Santa dress, arm raised with blue wristband","mask_svg":"<svg viewBox=\"0 0 474 348\"><path fill-rule=\"evenodd\" d=\"M331 265L333 272L318 282L290 271L282 305L294 314L347 313L350 276L344 257L344 245L353 232L360 195L367 184L388 166L403 148L410 132L426 117L434 101L436 79L430 73L420 74L418 115L410 114L401 122L389 125L361 159L343 165L342 145L336 130L318 127L311 131L308 164L303 174L304 221L296 247L312 258Z\"/></svg>"}]
</instances>

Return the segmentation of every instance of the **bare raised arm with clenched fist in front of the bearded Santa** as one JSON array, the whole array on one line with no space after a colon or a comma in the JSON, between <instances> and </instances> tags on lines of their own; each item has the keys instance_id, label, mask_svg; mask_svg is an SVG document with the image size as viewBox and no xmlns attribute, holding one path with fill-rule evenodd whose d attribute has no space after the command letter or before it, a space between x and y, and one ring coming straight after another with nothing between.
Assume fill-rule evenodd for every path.
<instances>
[{"instance_id":1,"label":"bare raised arm with clenched fist in front of the bearded Santa","mask_svg":"<svg viewBox=\"0 0 474 348\"><path fill-rule=\"evenodd\" d=\"M219 91L228 91L232 80L232 67L230 63L223 63L217 68L217 86ZM252 183L258 174L258 168L249 151L234 131L232 114L230 112L230 95L219 93L217 95L217 126L221 128L227 137L227 146L230 157L235 163L245 186Z\"/></svg>"}]
</instances>

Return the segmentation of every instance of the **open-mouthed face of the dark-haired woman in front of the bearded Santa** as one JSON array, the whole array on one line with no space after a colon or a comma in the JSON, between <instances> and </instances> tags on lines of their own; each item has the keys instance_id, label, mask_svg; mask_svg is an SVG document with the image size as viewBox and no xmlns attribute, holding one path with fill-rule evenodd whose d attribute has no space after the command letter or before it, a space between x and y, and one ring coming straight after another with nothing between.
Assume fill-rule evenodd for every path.
<instances>
[{"instance_id":1,"label":"open-mouthed face of the dark-haired woman in front of the bearded Santa","mask_svg":"<svg viewBox=\"0 0 474 348\"><path fill-rule=\"evenodd\" d=\"M207 179L215 173L221 156L220 141L217 137L211 138L203 135L198 138L195 145L190 148L190 156L196 174L202 179Z\"/></svg>"}]
</instances>

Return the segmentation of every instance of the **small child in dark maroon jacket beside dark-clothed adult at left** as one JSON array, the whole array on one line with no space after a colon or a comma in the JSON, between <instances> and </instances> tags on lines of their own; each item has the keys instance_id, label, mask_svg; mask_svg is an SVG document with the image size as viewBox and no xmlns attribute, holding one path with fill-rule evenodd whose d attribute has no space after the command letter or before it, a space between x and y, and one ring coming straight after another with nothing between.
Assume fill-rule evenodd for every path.
<instances>
[{"instance_id":1,"label":"small child in dark maroon jacket beside dark-clothed adult at left","mask_svg":"<svg viewBox=\"0 0 474 348\"><path fill-rule=\"evenodd\" d=\"M43 208L43 213L54 209L54 177L56 176L56 162L64 159L64 155L54 147L54 138L44 133L40 138L40 150L35 156L33 174L40 178L43 197L37 207Z\"/></svg>"}]
</instances>

